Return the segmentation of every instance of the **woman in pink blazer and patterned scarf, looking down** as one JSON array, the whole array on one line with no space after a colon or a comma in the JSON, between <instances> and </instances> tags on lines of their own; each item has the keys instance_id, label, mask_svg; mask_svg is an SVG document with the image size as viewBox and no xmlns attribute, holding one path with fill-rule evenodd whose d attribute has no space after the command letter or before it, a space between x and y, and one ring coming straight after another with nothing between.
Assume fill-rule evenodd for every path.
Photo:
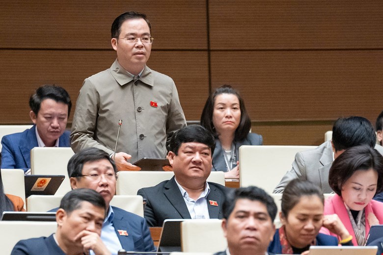
<instances>
[{"instance_id":1,"label":"woman in pink blazer and patterned scarf, looking down","mask_svg":"<svg viewBox=\"0 0 383 255\"><path fill-rule=\"evenodd\" d=\"M382 177L383 156L366 145L347 149L331 165L328 183L336 194L326 200L325 214L339 216L354 245L364 245L371 226L383 224L383 203L372 200L383 190Z\"/></svg>"}]
</instances>

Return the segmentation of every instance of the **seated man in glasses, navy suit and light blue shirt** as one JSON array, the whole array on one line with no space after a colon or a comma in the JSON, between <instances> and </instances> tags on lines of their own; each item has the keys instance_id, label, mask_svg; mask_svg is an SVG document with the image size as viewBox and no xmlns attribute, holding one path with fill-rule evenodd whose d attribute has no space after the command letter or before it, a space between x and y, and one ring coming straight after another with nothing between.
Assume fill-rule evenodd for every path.
<instances>
[{"instance_id":1,"label":"seated man in glasses, navy suit and light blue shirt","mask_svg":"<svg viewBox=\"0 0 383 255\"><path fill-rule=\"evenodd\" d=\"M97 148L86 148L74 154L68 162L72 189L94 189L105 200L107 217L101 239L108 250L113 255L121 249L152 252L155 248L145 219L110 205L116 192L116 172L117 167L109 154Z\"/></svg>"}]
</instances>

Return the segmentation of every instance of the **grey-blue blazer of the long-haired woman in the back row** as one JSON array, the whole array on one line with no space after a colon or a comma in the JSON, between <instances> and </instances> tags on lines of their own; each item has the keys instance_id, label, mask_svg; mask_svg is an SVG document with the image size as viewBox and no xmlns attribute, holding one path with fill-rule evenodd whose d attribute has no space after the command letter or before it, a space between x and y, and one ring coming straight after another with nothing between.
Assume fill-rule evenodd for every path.
<instances>
[{"instance_id":1,"label":"grey-blue blazer of the long-haired woman in the back row","mask_svg":"<svg viewBox=\"0 0 383 255\"><path fill-rule=\"evenodd\" d=\"M236 155L236 161L239 161L239 148L242 145L263 145L263 138L262 135L256 134L256 133L248 133L245 140L241 142L235 143L235 155ZM222 149L221 143L219 142L219 139L216 139L216 148L214 149L213 153L213 168L212 171L223 171L227 172L225 157L223 155L224 151ZM231 169L229 169L230 171Z\"/></svg>"}]
</instances>

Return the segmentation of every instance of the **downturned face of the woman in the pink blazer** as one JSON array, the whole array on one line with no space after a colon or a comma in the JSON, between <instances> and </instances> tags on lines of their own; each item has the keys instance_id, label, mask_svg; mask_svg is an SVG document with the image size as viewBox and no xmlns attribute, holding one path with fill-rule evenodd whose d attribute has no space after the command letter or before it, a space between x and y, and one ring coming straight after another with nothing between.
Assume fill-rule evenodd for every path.
<instances>
[{"instance_id":1,"label":"downturned face of the woman in the pink blazer","mask_svg":"<svg viewBox=\"0 0 383 255\"><path fill-rule=\"evenodd\" d=\"M342 199L347 206L360 211L370 203L376 193L378 173L369 170L357 170L342 186Z\"/></svg>"}]
</instances>

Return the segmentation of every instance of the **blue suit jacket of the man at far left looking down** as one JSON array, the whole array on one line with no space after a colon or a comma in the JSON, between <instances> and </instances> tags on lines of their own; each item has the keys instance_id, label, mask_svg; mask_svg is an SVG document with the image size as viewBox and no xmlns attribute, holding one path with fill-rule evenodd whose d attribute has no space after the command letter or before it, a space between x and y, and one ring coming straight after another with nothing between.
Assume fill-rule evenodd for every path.
<instances>
[{"instance_id":1,"label":"blue suit jacket of the man at far left looking down","mask_svg":"<svg viewBox=\"0 0 383 255\"><path fill-rule=\"evenodd\" d=\"M70 147L69 131L60 136L58 147ZM38 147L36 126L21 133L4 135L1 139L1 168L30 169L30 150Z\"/></svg>"}]
</instances>

